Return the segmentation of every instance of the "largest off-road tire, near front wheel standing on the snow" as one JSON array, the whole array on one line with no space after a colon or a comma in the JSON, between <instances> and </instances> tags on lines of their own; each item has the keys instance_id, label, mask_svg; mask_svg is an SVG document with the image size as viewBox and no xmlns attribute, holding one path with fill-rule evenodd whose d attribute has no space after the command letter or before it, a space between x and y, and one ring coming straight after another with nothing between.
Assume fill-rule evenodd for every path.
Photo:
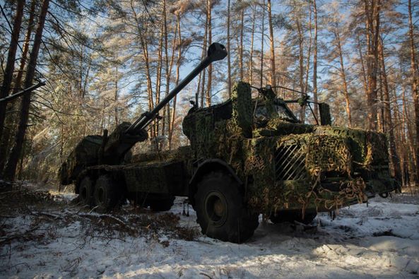
<instances>
[{"instance_id":1,"label":"largest off-road tire, near front wheel standing on the snow","mask_svg":"<svg viewBox=\"0 0 419 279\"><path fill-rule=\"evenodd\" d=\"M196 222L204 235L241 243L252 237L258 215L244 204L239 185L224 172L211 172L201 179L194 196Z\"/></svg>"}]
</instances>

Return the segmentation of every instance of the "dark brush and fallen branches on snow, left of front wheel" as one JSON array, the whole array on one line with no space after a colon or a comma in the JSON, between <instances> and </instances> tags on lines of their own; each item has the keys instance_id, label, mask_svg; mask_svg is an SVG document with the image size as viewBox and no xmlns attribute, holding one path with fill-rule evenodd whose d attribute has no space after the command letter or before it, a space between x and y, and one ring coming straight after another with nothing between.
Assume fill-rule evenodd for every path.
<instances>
[{"instance_id":1,"label":"dark brush and fallen branches on snow, left of front wheel","mask_svg":"<svg viewBox=\"0 0 419 279\"><path fill-rule=\"evenodd\" d=\"M13 241L45 244L57 238L57 229L75 224L80 227L77 237L84 236L85 242L95 238L123 240L130 236L157 239L165 247L169 242L160 241L161 234L185 240L193 240L198 234L193 227L181 227L179 215L174 213L153 213L129 204L111 213L96 213L95 208L79 204L77 198L66 201L22 182L0 186L0 212L0 248ZM19 216L30 218L31 224L11 232L6 220ZM0 258L4 256L7 255Z\"/></svg>"}]
</instances>

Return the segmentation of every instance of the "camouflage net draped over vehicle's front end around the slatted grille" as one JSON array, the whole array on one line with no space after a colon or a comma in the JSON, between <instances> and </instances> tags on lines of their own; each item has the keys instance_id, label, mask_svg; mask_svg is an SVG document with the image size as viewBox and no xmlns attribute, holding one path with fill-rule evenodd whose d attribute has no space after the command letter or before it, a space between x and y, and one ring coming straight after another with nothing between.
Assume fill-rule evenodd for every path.
<instances>
[{"instance_id":1,"label":"camouflage net draped over vehicle's front end around the slatted grille","mask_svg":"<svg viewBox=\"0 0 419 279\"><path fill-rule=\"evenodd\" d=\"M350 146L346 138L305 133L256 138L247 146L252 151L245 163L245 174L254 178L249 187L249 204L258 212L331 210L348 201L365 200L365 183L350 178ZM331 171L343 177L338 191L332 192L320 183L322 174Z\"/></svg>"}]
</instances>

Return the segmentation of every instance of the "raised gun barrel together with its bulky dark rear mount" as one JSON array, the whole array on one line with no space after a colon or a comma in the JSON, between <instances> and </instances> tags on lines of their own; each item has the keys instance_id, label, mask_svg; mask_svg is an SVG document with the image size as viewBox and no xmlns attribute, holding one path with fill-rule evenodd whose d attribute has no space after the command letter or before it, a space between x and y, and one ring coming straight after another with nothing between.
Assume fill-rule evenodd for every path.
<instances>
[{"instance_id":1,"label":"raised gun barrel together with its bulky dark rear mount","mask_svg":"<svg viewBox=\"0 0 419 279\"><path fill-rule=\"evenodd\" d=\"M208 48L207 57L196 66L170 93L150 112L141 114L134 123L123 122L107 136L86 136L70 153L59 170L61 184L71 184L78 174L93 165L119 165L124 162L126 153L138 142L148 138L146 128L158 118L158 112L165 107L188 83L206 69L213 61L224 59L227 51L217 42Z\"/></svg>"}]
</instances>

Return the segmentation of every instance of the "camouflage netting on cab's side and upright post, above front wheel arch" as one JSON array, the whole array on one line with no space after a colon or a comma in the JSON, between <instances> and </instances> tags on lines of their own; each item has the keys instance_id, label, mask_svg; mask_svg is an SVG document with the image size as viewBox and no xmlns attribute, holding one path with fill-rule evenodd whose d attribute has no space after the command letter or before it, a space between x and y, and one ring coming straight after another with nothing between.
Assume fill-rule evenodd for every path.
<instances>
[{"instance_id":1,"label":"camouflage netting on cab's side and upright post, above front wheel arch","mask_svg":"<svg viewBox=\"0 0 419 279\"><path fill-rule=\"evenodd\" d=\"M196 158L221 158L242 170L242 140L252 136L252 99L247 83L233 86L231 101L197 109L183 121Z\"/></svg>"}]
</instances>

